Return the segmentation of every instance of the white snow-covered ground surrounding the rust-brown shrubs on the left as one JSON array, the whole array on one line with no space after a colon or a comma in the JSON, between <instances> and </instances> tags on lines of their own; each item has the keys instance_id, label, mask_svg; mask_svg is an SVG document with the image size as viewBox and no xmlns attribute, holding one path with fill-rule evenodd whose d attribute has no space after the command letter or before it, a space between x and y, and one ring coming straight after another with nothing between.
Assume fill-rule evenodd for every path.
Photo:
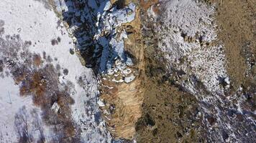
<instances>
[{"instance_id":1,"label":"white snow-covered ground surrounding the rust-brown shrubs on the left","mask_svg":"<svg viewBox=\"0 0 256 143\"><path fill-rule=\"evenodd\" d=\"M73 40L69 37L68 31L55 12L49 9L48 6L45 1L0 1L0 20L4 21L2 22L4 24L0 26L0 28L4 28L4 33L0 34L0 54L7 52L5 48L10 45L5 47L5 44L12 42L6 36L19 35L16 39L19 48L14 49L17 50L14 51L14 54L17 54L15 58L17 61L14 61L15 66L25 66L27 64L27 61L22 59L23 56L26 56L22 54L24 51L41 57L40 65L27 66L28 71L44 70L47 64L55 66L55 69L60 72L58 73L59 76L56 77L58 86L53 88L59 88L58 90L62 91L66 85L72 85L69 87L70 92L68 92L74 101L74 104L68 105L72 117L70 120L76 124L76 129L81 130L81 132L78 132L81 136L81 142L110 142L111 137L104 127L104 122L101 120L98 105L96 104L98 100L96 77L94 77L92 69L81 65L76 54L70 54L70 49L73 49L74 46ZM47 57L45 58L45 56ZM17 142L19 134L17 134L18 131L14 127L14 118L15 114L18 114L23 106L27 110L36 109L40 121L44 122L45 120L41 119L43 115L41 116L40 107L36 107L33 104L33 95L28 95L27 97L19 95L20 88L26 82L27 77L21 83L15 84L14 75L10 72L9 77L7 77L6 73L4 73L12 70L12 65L7 66L6 64L8 63L5 62L6 58L12 60L12 57L2 55L0 58L4 61L4 71L1 73L4 77L0 79L0 140L1 142ZM26 58L31 59L31 57ZM27 72L25 74L31 76ZM50 136L55 136L55 134L51 133L53 132L53 127L51 124L42 124L44 124L45 140L50 142L54 138ZM8 132L8 135L6 132ZM29 134L34 134L32 136L35 136L37 132Z\"/></svg>"}]
</instances>

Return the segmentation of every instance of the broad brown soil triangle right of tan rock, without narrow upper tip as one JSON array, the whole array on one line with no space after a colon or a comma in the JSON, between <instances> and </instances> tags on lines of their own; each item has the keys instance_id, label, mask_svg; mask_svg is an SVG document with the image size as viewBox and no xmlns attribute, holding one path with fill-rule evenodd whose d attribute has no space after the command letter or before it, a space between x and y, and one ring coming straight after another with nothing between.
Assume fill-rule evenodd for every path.
<instances>
[{"instance_id":1,"label":"broad brown soil triangle right of tan rock, without narrow upper tip","mask_svg":"<svg viewBox=\"0 0 256 143\"><path fill-rule=\"evenodd\" d=\"M137 122L137 142L198 142L197 101L166 77L163 62L147 57L145 100ZM193 124L193 125L192 125Z\"/></svg>"}]
</instances>

